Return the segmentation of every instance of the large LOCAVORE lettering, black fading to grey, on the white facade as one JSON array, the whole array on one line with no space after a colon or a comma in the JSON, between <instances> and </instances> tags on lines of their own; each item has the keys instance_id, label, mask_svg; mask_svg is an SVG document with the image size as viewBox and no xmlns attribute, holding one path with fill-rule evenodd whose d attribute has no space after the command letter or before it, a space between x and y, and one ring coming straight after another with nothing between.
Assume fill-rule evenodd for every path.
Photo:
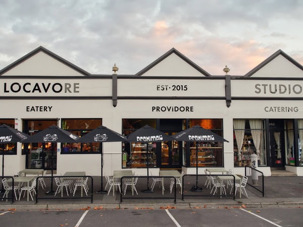
<instances>
[{"instance_id":1,"label":"large LOCAVORE lettering, black fading to grey, on the white facade","mask_svg":"<svg viewBox=\"0 0 303 227\"><path fill-rule=\"evenodd\" d=\"M80 83L4 83L4 93L79 93Z\"/></svg>"}]
</instances>

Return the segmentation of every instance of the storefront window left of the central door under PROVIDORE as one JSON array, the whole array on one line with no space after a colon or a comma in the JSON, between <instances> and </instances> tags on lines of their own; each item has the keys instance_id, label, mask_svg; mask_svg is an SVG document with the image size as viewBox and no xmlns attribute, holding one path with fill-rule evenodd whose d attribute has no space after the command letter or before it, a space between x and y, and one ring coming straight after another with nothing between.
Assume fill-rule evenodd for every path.
<instances>
[{"instance_id":1,"label":"storefront window left of the central door under PROVIDORE","mask_svg":"<svg viewBox=\"0 0 303 227\"><path fill-rule=\"evenodd\" d=\"M128 134L140 129L145 125L156 128L156 119L123 119L122 134L127 136ZM122 152L122 167L123 168L135 168L135 167L148 167L157 166L156 150L157 146L161 146L161 143L124 143ZM148 155L147 155L148 154Z\"/></svg>"}]
</instances>

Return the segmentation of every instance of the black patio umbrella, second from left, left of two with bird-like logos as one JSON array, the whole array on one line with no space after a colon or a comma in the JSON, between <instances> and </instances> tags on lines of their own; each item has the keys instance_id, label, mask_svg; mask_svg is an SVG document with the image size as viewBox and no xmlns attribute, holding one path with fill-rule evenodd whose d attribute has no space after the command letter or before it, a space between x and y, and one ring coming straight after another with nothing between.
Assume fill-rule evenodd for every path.
<instances>
[{"instance_id":1,"label":"black patio umbrella, second from left, left of two with bird-like logos","mask_svg":"<svg viewBox=\"0 0 303 227\"><path fill-rule=\"evenodd\" d=\"M35 135L22 140L22 143L75 143L79 136L72 134L69 131L59 128L56 125L49 126L48 128L36 133ZM52 183L51 191L47 193L53 193L53 176L54 176L54 166L53 166L54 150L52 150Z\"/></svg>"}]
</instances>

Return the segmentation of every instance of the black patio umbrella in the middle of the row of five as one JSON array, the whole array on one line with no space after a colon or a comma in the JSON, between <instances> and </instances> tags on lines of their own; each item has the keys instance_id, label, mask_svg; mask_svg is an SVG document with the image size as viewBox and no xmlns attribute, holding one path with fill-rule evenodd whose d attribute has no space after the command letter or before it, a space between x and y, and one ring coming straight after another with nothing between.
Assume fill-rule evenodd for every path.
<instances>
[{"instance_id":1,"label":"black patio umbrella in the middle of the row of five","mask_svg":"<svg viewBox=\"0 0 303 227\"><path fill-rule=\"evenodd\" d=\"M105 127L98 126L91 132L77 139L77 143L105 143L105 142L126 142L127 140L119 133ZM107 194L107 191L103 190L103 150L101 150L101 190L96 194Z\"/></svg>"}]
</instances>

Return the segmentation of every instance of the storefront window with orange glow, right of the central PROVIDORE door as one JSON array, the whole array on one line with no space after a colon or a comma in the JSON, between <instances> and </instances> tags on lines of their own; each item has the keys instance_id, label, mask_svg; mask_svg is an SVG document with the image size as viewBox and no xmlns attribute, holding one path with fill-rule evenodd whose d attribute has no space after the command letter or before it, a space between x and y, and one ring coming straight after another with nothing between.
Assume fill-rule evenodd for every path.
<instances>
[{"instance_id":1,"label":"storefront window with orange glow, right of the central PROVIDORE door","mask_svg":"<svg viewBox=\"0 0 303 227\"><path fill-rule=\"evenodd\" d=\"M217 135L223 137L221 119L192 119L189 120L189 127L199 125L208 129ZM196 143L190 143L189 160L186 161L190 167L203 166L223 166L223 143L222 142L197 142L198 152L196 152ZM185 142L186 146L186 142ZM197 153L197 154L196 154ZM187 156L188 157L188 156Z\"/></svg>"}]
</instances>

